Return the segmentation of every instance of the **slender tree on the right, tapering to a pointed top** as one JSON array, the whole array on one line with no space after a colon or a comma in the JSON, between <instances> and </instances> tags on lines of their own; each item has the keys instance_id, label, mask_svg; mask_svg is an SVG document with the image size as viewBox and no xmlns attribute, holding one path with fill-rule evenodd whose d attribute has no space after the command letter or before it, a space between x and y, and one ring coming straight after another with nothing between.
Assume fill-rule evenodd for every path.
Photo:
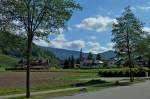
<instances>
[{"instance_id":1,"label":"slender tree on the right, tapering to a pointed top","mask_svg":"<svg viewBox=\"0 0 150 99\"><path fill-rule=\"evenodd\" d=\"M115 43L114 48L117 53L127 57L130 81L134 80L132 72L134 67L133 53L138 46L138 42L142 39L142 28L142 23L132 13L130 6L125 8L122 16L117 18L117 22L113 24L112 41Z\"/></svg>"}]
</instances>

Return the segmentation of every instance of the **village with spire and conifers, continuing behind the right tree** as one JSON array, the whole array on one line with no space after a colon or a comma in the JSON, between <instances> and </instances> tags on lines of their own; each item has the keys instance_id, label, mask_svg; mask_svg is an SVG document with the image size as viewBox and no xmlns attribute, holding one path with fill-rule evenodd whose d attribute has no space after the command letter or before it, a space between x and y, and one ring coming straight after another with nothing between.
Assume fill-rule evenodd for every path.
<instances>
[{"instance_id":1,"label":"village with spire and conifers, continuing behind the right tree","mask_svg":"<svg viewBox=\"0 0 150 99\"><path fill-rule=\"evenodd\" d=\"M135 58L135 66L149 66L149 60L137 56ZM80 50L79 58L75 59L74 56L66 58L62 67L64 69L69 68L113 68L113 67L122 67L128 66L128 61L125 61L123 58L118 58L117 56L112 57L111 59L103 59L100 54L93 55L91 52L88 55L82 53Z\"/></svg>"}]
</instances>

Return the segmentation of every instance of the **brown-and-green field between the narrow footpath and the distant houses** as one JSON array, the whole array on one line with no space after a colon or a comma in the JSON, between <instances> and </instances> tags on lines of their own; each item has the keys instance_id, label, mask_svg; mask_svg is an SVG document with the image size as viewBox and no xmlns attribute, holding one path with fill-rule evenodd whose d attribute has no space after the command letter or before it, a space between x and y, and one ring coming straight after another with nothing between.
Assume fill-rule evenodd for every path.
<instances>
[{"instance_id":1,"label":"brown-and-green field between the narrow footpath and the distant houses","mask_svg":"<svg viewBox=\"0 0 150 99\"><path fill-rule=\"evenodd\" d=\"M0 72L0 95L25 92L25 72ZM32 72L31 90L42 91L73 87L81 78L95 78L97 73Z\"/></svg>"}]
</instances>

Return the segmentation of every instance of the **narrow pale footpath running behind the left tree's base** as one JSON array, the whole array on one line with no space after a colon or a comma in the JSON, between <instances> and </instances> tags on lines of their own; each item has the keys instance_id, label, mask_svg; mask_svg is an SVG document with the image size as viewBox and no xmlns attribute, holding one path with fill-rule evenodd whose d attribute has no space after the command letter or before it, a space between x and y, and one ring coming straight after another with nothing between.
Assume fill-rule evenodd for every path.
<instances>
[{"instance_id":1,"label":"narrow pale footpath running behind the left tree's base","mask_svg":"<svg viewBox=\"0 0 150 99\"><path fill-rule=\"evenodd\" d=\"M76 87L76 88L66 88L66 89L57 89L57 90L50 90L50 91L40 91L40 92L32 92L31 95L41 95L41 94L47 94L47 93L54 93L54 92L62 92L62 91L70 91L75 89L82 89L85 87ZM15 98L15 97L22 97L26 94L14 94L14 95L6 95L6 96L0 96L0 99L7 99L7 98Z\"/></svg>"}]
</instances>

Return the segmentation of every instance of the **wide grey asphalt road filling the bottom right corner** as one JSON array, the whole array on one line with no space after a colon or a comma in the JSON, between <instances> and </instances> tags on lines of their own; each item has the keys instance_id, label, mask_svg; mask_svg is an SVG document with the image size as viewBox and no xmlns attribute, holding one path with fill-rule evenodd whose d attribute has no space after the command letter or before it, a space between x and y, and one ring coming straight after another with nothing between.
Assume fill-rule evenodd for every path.
<instances>
[{"instance_id":1,"label":"wide grey asphalt road filling the bottom right corner","mask_svg":"<svg viewBox=\"0 0 150 99\"><path fill-rule=\"evenodd\" d=\"M150 99L150 81L55 99Z\"/></svg>"}]
</instances>

